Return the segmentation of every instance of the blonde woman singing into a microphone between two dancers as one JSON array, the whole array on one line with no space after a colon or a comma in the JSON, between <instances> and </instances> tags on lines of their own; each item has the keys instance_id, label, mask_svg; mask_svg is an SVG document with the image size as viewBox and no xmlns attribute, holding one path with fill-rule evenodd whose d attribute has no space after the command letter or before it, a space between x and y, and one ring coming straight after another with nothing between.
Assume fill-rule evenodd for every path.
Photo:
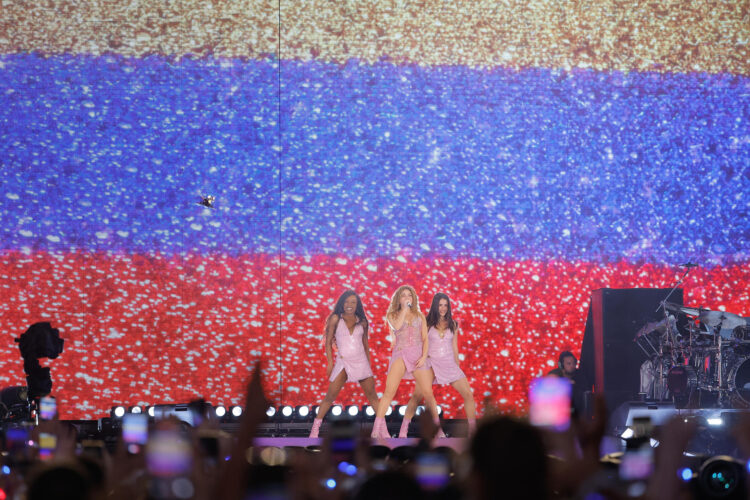
<instances>
[{"instance_id":1,"label":"blonde woman singing into a microphone between two dancers","mask_svg":"<svg viewBox=\"0 0 750 500\"><path fill-rule=\"evenodd\" d=\"M393 396L396 395L402 378L415 379L420 393L424 395L425 405L432 412L433 419L439 426L437 404L432 394L432 371L427 362L427 326L424 315L419 310L417 292L414 288L403 285L396 290L388 308L386 322L395 341L385 381L385 391L375 413L372 437L391 437L385 423L385 414L393 401ZM439 429L438 437L444 436L443 431Z\"/></svg>"}]
</instances>

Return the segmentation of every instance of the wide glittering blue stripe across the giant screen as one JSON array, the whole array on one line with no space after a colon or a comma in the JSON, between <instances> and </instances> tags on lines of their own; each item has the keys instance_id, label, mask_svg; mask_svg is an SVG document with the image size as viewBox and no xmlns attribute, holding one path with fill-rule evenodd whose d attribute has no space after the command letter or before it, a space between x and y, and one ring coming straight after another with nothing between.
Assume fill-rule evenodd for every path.
<instances>
[{"instance_id":1,"label":"wide glittering blue stripe across the giant screen","mask_svg":"<svg viewBox=\"0 0 750 500\"><path fill-rule=\"evenodd\" d=\"M747 77L0 60L0 248L671 263L750 248Z\"/></svg>"}]
</instances>

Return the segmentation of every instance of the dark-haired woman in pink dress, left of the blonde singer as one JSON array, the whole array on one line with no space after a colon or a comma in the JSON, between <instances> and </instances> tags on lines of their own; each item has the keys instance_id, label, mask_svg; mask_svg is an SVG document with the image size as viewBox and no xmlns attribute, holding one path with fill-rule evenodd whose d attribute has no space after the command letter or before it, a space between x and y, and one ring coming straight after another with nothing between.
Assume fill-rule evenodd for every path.
<instances>
[{"instance_id":1,"label":"dark-haired woman in pink dress, left of the blonde singer","mask_svg":"<svg viewBox=\"0 0 750 500\"><path fill-rule=\"evenodd\" d=\"M347 381L359 382L370 405L377 407L378 395L375 392L375 379L370 368L370 348L367 344L368 329L362 301L356 293L347 290L336 301L336 306L326 321L326 376L330 385L313 421L311 438L318 437L323 418ZM334 342L338 349L335 363Z\"/></svg>"}]
</instances>

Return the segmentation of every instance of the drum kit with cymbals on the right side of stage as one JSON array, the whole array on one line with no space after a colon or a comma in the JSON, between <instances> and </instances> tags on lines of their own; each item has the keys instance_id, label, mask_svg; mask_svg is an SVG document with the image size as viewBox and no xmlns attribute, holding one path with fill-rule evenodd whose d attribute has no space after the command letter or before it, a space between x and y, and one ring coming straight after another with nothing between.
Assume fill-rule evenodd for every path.
<instances>
[{"instance_id":1,"label":"drum kit with cymbals on the right side of stage","mask_svg":"<svg viewBox=\"0 0 750 500\"><path fill-rule=\"evenodd\" d=\"M750 321L667 301L659 309L664 318L635 336L649 358L652 397L682 407L713 399L722 408L750 408Z\"/></svg>"}]
</instances>

